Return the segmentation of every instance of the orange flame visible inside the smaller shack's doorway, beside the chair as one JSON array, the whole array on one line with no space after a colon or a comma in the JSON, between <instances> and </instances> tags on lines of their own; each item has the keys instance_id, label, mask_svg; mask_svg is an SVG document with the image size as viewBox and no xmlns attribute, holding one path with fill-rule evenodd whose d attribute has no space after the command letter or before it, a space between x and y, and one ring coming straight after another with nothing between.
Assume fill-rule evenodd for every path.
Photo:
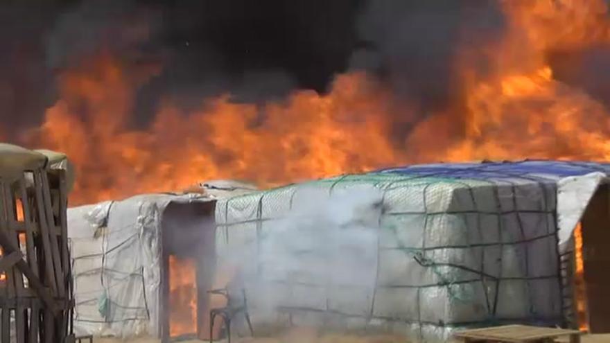
<instances>
[{"instance_id":1,"label":"orange flame visible inside the smaller shack's doorway, beside the chair","mask_svg":"<svg viewBox=\"0 0 610 343\"><path fill-rule=\"evenodd\" d=\"M197 288L195 263L169 256L170 335L197 333Z\"/></svg>"}]
</instances>

